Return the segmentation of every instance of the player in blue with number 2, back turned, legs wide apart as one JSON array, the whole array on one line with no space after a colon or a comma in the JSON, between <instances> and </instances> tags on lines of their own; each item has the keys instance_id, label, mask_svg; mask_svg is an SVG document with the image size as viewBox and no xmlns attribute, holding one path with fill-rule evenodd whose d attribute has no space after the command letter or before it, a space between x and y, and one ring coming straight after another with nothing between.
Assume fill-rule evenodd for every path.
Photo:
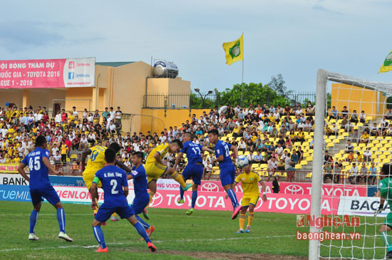
<instances>
[{"instance_id":1,"label":"player in blue with number 2, back turned, legs wide apart","mask_svg":"<svg viewBox=\"0 0 392 260\"><path fill-rule=\"evenodd\" d=\"M133 227L135 227L140 236L145 239L148 248L151 251L156 251L157 248L151 242L142 224L140 224L138 219L136 219L133 209L128 205L127 196L129 190L127 174L124 170L115 166L115 153L115 150L111 148L105 150L105 161L107 166L96 172L96 177L94 177L93 184L91 184L91 209L95 209L97 207L95 193L97 192L96 187L99 182L102 183L105 196L104 202L99 207L93 221L94 236L96 236L99 243L99 248L96 252L108 252L108 247L106 247L105 238L103 236L102 229L100 229L100 225L108 220L114 212L117 213L121 219L128 219L130 224L133 224Z\"/></svg>"}]
</instances>

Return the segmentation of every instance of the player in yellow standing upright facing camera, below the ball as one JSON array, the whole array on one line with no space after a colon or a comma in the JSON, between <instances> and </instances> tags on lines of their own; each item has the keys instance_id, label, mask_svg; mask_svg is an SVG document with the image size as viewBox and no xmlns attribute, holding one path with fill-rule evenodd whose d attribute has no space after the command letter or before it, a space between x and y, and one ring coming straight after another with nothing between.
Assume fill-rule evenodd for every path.
<instances>
[{"instance_id":1,"label":"player in yellow standing upright facing camera, below the ball","mask_svg":"<svg viewBox=\"0 0 392 260\"><path fill-rule=\"evenodd\" d=\"M242 202L241 202L241 211L239 212L239 230L236 232L238 233L244 233L250 232L250 225L252 224L253 217L254 217L254 207L256 207L257 202L259 201L260 193L259 193L259 182L262 184L262 189L263 189L263 194L262 194L262 199L264 202L267 201L267 196L265 195L265 184L262 181L262 178L257 174L257 172L254 172L251 170L252 169L252 163L249 162L248 165L244 166L242 172L240 175L237 176L234 180L234 187L241 182L242 184L242 190L244 193L244 196L242 197ZM233 188L234 189L234 188ZM249 208L249 214L248 214L248 224L247 224L247 229L244 231L244 225L245 225L245 217L247 214L247 209Z\"/></svg>"}]
</instances>

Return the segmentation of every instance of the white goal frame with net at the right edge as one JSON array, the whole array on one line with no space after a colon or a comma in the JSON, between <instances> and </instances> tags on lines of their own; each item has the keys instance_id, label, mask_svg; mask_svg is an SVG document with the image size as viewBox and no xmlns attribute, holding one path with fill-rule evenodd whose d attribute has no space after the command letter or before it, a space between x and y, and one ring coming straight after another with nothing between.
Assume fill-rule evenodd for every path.
<instances>
[{"instance_id":1,"label":"white goal frame with net at the right edge","mask_svg":"<svg viewBox=\"0 0 392 260\"><path fill-rule=\"evenodd\" d=\"M331 98L327 99L329 96ZM378 234L386 212L384 210L382 214L373 215L375 211L373 207L374 205L378 207L379 198L374 197L374 194L369 195L368 191L377 191L378 174L382 165L392 162L392 127L389 129L389 125L392 125L392 116L389 119L384 118L387 105L392 108L392 104L387 102L388 96L392 96L392 83L363 80L323 69L317 71L310 214L314 218L322 215L325 217L326 214L331 218L359 217L360 223L358 226L341 225L339 228L310 225L309 233L319 235L321 232L352 233L360 234L361 239L356 241L309 239L311 260L383 259L386 256L386 246L381 235ZM338 118L331 118L329 106L336 106L336 110L339 111ZM344 110L346 112L342 111L344 106L347 107L347 111ZM364 110L363 114L362 110ZM361 116L364 119L359 120ZM332 128L336 129L335 132L331 132ZM368 141L363 142L361 135L366 136L366 133ZM358 153L358 158L351 160L349 157L351 152L346 151L347 145L354 146L353 153L355 156ZM329 151L331 162L324 165L326 150ZM338 160L339 163L336 164ZM371 166L373 164L374 166ZM333 170L331 168L326 170L331 165ZM335 170L335 165L338 165L336 168L339 170ZM361 170L355 170L357 166L363 167L363 172L366 174L362 175ZM377 170L373 175L373 182L370 181L369 167ZM323 195L324 189L355 192L354 194L331 192ZM354 201L363 202L366 207L355 211L352 208ZM326 205L329 207L328 210ZM351 208L348 205L351 205Z\"/></svg>"}]
</instances>

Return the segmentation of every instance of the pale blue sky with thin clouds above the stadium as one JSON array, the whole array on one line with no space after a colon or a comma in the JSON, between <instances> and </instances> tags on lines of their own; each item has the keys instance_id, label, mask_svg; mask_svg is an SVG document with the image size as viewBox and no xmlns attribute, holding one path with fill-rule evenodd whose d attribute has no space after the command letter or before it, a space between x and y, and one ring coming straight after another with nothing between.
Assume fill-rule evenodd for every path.
<instances>
[{"instance_id":1,"label":"pale blue sky with thin clouds above the stadium","mask_svg":"<svg viewBox=\"0 0 392 260\"><path fill-rule=\"evenodd\" d=\"M392 49L391 0L4 1L0 59L96 57L174 61L192 88L241 82L222 43L244 31L244 81L282 73L314 91L316 71L392 82L378 68Z\"/></svg>"}]
</instances>

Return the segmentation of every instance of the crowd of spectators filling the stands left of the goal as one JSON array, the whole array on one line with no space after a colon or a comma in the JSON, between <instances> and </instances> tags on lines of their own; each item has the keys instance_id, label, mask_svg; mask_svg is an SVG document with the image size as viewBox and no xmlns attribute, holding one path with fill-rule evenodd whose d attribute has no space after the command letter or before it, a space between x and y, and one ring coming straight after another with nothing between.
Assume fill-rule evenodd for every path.
<instances>
[{"instance_id":1,"label":"crowd of spectators filling the stands left of the goal","mask_svg":"<svg viewBox=\"0 0 392 260\"><path fill-rule=\"evenodd\" d=\"M58 110L49 116L46 108L17 108L15 105L0 109L0 163L19 163L31 150L37 135L45 135L48 150L51 151L51 162L60 167L71 164L76 172L80 169L80 156L71 162L67 160L72 150L83 151L89 145L109 145L118 142L121 145L120 159L130 166L130 155L133 151L141 151L148 156L150 150L163 142L174 139L182 140L182 132L190 132L193 142L211 146L206 132L216 128L220 136L232 134L232 142L238 150L247 153L250 161L267 164L271 173L275 170L292 170L303 160L301 147L293 147L295 142L304 142L304 132L314 130L314 108L309 102L303 110L298 103L293 108L286 105L249 105L242 108L224 105L205 111L202 115L192 115L178 128L173 126L157 132L121 131L122 112L105 108L83 112L73 107L71 111ZM293 119L294 118L294 119ZM278 127L279 126L279 127ZM279 129L279 130L278 130ZM287 135L287 132L289 134ZM239 137L239 142L237 142ZM273 142L271 138L278 138ZM249 152L249 154L248 154ZM212 172L212 160L215 155L203 156L203 164L207 173ZM164 162L172 165L175 155L168 154ZM185 160L179 167L185 165Z\"/></svg>"}]
</instances>

